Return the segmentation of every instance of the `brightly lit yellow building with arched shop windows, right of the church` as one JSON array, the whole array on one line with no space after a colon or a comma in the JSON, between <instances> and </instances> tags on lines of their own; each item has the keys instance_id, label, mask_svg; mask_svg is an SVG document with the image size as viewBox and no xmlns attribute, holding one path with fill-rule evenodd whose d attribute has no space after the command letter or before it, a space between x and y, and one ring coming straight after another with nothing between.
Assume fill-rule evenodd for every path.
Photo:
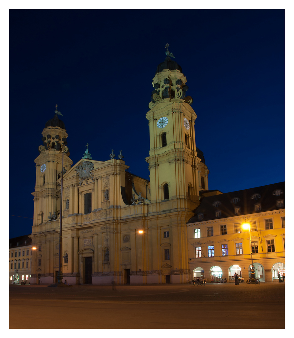
<instances>
[{"instance_id":1,"label":"brightly lit yellow building with arched shop windows, right of the church","mask_svg":"<svg viewBox=\"0 0 294 338\"><path fill-rule=\"evenodd\" d=\"M203 197L187 222L191 279L230 282L237 272L246 282L253 263L260 281L278 281L285 271L284 193L280 182Z\"/></svg>"}]
</instances>

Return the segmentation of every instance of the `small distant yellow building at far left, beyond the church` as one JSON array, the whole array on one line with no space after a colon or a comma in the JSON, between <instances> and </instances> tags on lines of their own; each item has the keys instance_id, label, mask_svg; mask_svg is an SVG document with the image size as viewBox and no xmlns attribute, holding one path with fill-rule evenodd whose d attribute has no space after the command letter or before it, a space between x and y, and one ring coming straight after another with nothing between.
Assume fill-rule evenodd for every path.
<instances>
[{"instance_id":1,"label":"small distant yellow building at far left, beyond the church","mask_svg":"<svg viewBox=\"0 0 294 338\"><path fill-rule=\"evenodd\" d=\"M32 241L29 236L9 239L9 284L30 283Z\"/></svg>"}]
</instances>

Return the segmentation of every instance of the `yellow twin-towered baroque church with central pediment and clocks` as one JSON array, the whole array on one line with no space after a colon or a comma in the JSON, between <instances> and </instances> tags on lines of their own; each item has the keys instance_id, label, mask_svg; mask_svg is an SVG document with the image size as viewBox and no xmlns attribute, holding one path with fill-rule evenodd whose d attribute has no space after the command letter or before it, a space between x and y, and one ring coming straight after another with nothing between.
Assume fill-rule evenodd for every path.
<instances>
[{"instance_id":1,"label":"yellow twin-towered baroque church with central pediment and clocks","mask_svg":"<svg viewBox=\"0 0 294 338\"><path fill-rule=\"evenodd\" d=\"M87 149L73 165L57 108L45 124L32 193L30 237L38 250L31 284L57 282L60 217L63 281L69 284L187 283L192 278L186 223L199 195L208 190L209 171L196 148L197 116L186 96L186 77L166 54L146 113L150 179L129 173L121 154L102 162Z\"/></svg>"}]
</instances>

